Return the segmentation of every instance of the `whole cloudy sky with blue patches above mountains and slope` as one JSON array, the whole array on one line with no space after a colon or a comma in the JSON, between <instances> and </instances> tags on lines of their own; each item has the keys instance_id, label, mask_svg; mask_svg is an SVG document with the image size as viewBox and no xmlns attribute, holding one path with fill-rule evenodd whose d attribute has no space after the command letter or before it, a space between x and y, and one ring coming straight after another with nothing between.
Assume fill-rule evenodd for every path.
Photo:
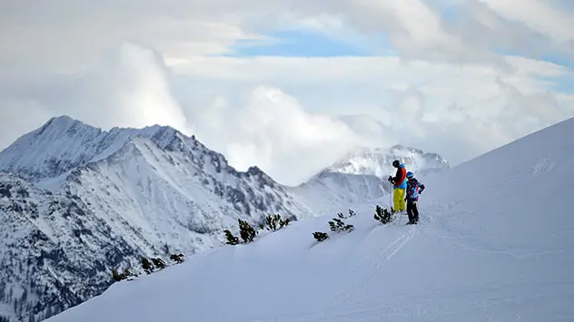
<instances>
[{"instance_id":1,"label":"whole cloudy sky with blue patches above mountains and slope","mask_svg":"<svg viewBox=\"0 0 574 322\"><path fill-rule=\"evenodd\" d=\"M569 0L0 3L0 149L171 125L294 185L357 146L451 166L574 116Z\"/></svg>"}]
</instances>

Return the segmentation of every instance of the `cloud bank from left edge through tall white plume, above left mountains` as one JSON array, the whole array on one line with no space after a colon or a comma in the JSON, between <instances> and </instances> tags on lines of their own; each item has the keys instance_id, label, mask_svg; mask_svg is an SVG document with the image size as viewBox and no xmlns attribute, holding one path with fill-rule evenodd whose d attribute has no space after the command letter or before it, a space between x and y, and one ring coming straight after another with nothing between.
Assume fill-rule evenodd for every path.
<instances>
[{"instance_id":1,"label":"cloud bank from left edge through tall white plume, above left mountains","mask_svg":"<svg viewBox=\"0 0 574 322\"><path fill-rule=\"evenodd\" d=\"M54 114L68 114L104 129L162 124L191 133L172 96L163 58L137 44L122 44L83 73L6 86L0 90L5 100L3 125L26 124L20 134ZM29 121L18 121L22 119ZM14 132L2 128L5 135Z\"/></svg>"}]
</instances>

